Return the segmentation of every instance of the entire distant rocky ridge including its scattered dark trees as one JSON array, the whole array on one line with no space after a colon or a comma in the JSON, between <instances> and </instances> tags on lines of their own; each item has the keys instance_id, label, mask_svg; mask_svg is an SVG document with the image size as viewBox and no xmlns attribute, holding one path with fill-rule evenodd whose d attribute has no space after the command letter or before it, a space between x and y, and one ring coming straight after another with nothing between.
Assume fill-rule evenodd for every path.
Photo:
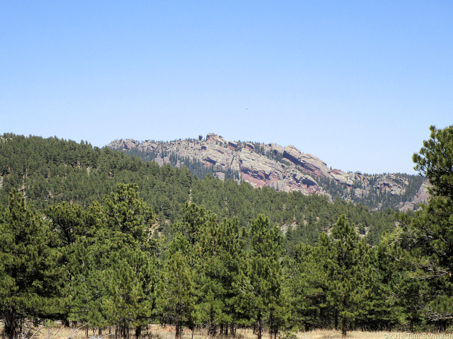
<instances>
[{"instance_id":1,"label":"entire distant rocky ridge including its scattered dark trees","mask_svg":"<svg viewBox=\"0 0 453 339\"><path fill-rule=\"evenodd\" d=\"M222 171L229 169L237 171L242 180L254 187L269 186L286 192L296 190L304 194L326 194L331 199L340 197L353 202L371 202L364 204L375 209L413 208L418 200L412 203L416 197L414 193L408 196L410 192L407 191L410 188L415 192L421 184L421 180L413 183L411 176L402 174L368 175L330 170L323 160L303 153L293 145L282 147L272 142L227 141L214 133L208 133L205 139L200 135L198 139L170 142L145 140L140 143L133 139L119 139L106 146L151 154L159 165L168 163L172 154L178 159L199 160L204 165L214 166L214 175L221 179L224 178ZM180 165L180 160L176 165ZM418 185L415 189L414 184ZM417 194L420 199L426 199L424 193ZM386 201L391 201L392 206Z\"/></svg>"}]
</instances>

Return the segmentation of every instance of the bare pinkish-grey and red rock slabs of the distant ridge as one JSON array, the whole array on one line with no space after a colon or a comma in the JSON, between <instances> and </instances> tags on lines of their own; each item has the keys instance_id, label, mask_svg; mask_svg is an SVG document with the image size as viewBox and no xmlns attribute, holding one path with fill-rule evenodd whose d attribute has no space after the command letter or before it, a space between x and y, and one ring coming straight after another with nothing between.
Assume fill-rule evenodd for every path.
<instances>
[{"instance_id":1,"label":"bare pinkish-grey and red rock slabs of the distant ridge","mask_svg":"<svg viewBox=\"0 0 453 339\"><path fill-rule=\"evenodd\" d=\"M136 147L142 151L157 150L159 152L164 148L168 154L176 152L181 157L187 156L191 160L200 160L208 166L220 165L223 169L237 170L242 180L254 187L269 186L286 192L300 191L304 194L327 194L314 178L334 180L348 189L352 189L352 185L355 183L354 195L356 197L360 197L362 194L366 195L372 190L376 190L376 187L380 187L390 194L403 194L405 192L405 188L398 183L400 180L396 180L394 174L381 175L377 182L375 181L375 186L371 188L368 177L360 172L345 173L337 169L329 170L324 161L314 155L302 153L293 145L282 147L272 142L260 145L260 148L264 148L265 154L283 157L286 165L271 160L265 155L255 153L255 147L251 143L247 142L244 147L240 148L236 141L229 140L226 142L223 137L219 137L215 133L208 133L206 141L202 141L201 135L198 136L198 140L191 142L183 140L164 144L155 144L149 140L139 143L133 139L120 139L112 141L107 146L118 150L130 150ZM169 159L168 157L162 159L159 156L156 157L155 161L162 165L164 161L169 162ZM216 176L220 179L225 178L221 172ZM409 203L406 206L405 204L401 208L410 209L417 203L427 201L429 198L427 185L429 184L424 183L420 187L419 192L410 202L412 205Z\"/></svg>"}]
</instances>

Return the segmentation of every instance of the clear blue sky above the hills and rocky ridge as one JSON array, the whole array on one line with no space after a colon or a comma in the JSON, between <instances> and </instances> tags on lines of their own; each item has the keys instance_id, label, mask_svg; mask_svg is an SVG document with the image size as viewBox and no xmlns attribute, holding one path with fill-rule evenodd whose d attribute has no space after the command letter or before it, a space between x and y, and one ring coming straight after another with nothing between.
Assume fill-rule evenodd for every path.
<instances>
[{"instance_id":1,"label":"clear blue sky above the hills and rocky ridge","mask_svg":"<svg viewBox=\"0 0 453 339\"><path fill-rule=\"evenodd\" d=\"M453 124L453 2L0 0L0 132L292 144L412 170Z\"/></svg>"}]
</instances>

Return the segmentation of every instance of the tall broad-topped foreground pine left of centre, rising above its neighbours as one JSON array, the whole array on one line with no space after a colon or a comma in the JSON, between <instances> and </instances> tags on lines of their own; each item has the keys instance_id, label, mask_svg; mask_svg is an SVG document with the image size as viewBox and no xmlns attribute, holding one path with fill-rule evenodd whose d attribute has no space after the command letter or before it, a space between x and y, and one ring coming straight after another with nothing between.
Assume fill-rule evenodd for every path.
<instances>
[{"instance_id":1,"label":"tall broad-topped foreground pine left of centre, rising above its neighbours","mask_svg":"<svg viewBox=\"0 0 453 339\"><path fill-rule=\"evenodd\" d=\"M104 200L107 241L113 242L105 263L103 310L108 321L119 323L123 338L130 325L140 336L154 308L156 279L154 213L139 198L135 184L117 184ZM101 240L103 242L104 240Z\"/></svg>"}]
</instances>

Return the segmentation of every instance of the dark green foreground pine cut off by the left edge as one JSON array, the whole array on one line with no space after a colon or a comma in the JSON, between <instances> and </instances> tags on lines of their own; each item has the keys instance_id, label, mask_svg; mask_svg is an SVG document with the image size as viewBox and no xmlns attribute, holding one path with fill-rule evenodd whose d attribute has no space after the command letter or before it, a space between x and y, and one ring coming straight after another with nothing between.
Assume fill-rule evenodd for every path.
<instances>
[{"instance_id":1,"label":"dark green foreground pine cut off by the left edge","mask_svg":"<svg viewBox=\"0 0 453 339\"><path fill-rule=\"evenodd\" d=\"M12 189L0 216L0 314L8 338L19 336L25 318L60 311L57 241L49 223Z\"/></svg>"}]
</instances>

